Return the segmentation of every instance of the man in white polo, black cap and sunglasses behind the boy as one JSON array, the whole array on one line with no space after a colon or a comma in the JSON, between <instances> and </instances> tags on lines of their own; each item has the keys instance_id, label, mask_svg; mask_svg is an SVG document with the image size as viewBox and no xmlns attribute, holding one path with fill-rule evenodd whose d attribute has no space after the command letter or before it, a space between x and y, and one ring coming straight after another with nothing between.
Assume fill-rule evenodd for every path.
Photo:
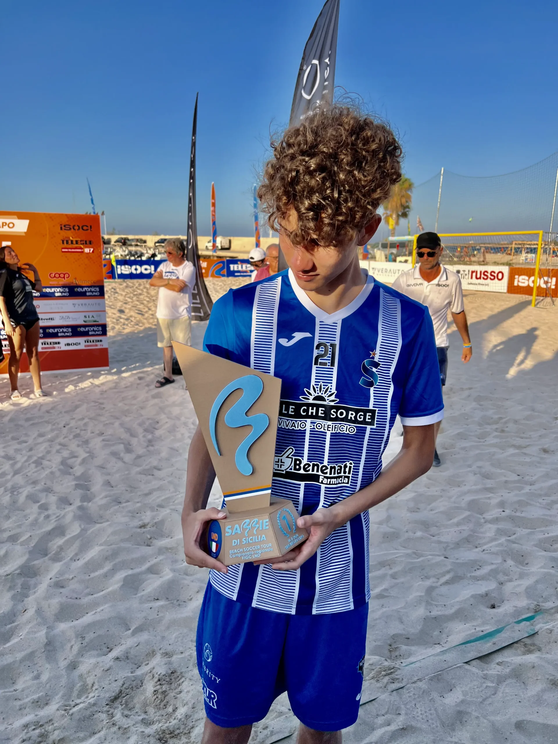
<instances>
[{"instance_id":1,"label":"man in white polo, black cap and sunglasses behind the boy","mask_svg":"<svg viewBox=\"0 0 558 744\"><path fill-rule=\"evenodd\" d=\"M434 324L438 362L440 364L440 381L446 384L448 368L448 310L452 312L453 322L463 339L461 359L466 363L472 356L469 327L463 305L461 279L456 272L440 264L443 246L440 236L433 232L424 232L417 237L418 263L414 269L400 274L392 287L428 307ZM437 437L440 421L434 424ZM440 466L440 457L434 449L434 467Z\"/></svg>"}]
</instances>

